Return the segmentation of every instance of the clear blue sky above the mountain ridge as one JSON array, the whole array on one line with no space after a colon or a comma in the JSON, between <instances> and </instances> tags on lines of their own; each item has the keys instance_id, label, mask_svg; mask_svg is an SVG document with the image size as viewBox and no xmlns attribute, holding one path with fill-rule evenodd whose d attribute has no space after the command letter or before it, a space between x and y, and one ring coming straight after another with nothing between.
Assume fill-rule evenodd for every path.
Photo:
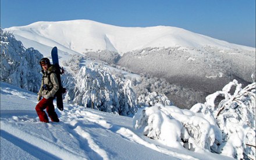
<instances>
[{"instance_id":1,"label":"clear blue sky above the mountain ridge","mask_svg":"<svg viewBox=\"0 0 256 160\"><path fill-rule=\"evenodd\" d=\"M74 19L122 27L180 27L255 47L255 0L1 0L3 29Z\"/></svg>"}]
</instances>

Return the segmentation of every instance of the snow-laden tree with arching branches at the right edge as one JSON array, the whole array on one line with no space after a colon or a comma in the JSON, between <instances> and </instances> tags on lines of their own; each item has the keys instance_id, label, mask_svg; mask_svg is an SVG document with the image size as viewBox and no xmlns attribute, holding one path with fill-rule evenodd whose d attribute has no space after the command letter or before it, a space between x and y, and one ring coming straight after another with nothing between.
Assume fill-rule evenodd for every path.
<instances>
[{"instance_id":1,"label":"snow-laden tree with arching branches at the right edge","mask_svg":"<svg viewBox=\"0 0 256 160\"><path fill-rule=\"evenodd\" d=\"M215 105L219 95L223 99ZM244 155L255 158L255 82L242 88L237 80L233 80L222 91L208 95L201 107L209 108L222 131L218 152L237 159L244 158Z\"/></svg>"}]
</instances>

